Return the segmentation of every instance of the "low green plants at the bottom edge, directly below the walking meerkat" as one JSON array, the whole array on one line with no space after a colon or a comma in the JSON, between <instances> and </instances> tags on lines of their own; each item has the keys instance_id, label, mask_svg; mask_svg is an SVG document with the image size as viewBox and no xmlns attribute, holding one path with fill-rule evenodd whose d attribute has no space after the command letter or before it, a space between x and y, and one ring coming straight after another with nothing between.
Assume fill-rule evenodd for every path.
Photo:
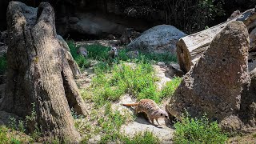
<instances>
[{"instance_id":1,"label":"low green plants at the bottom edge, directly below the walking meerkat","mask_svg":"<svg viewBox=\"0 0 256 144\"><path fill-rule=\"evenodd\" d=\"M134 138L122 138L122 141L126 144L154 144L154 143L160 143L159 139L155 137L152 132L145 131L144 134L138 133L135 134Z\"/></svg>"}]
</instances>

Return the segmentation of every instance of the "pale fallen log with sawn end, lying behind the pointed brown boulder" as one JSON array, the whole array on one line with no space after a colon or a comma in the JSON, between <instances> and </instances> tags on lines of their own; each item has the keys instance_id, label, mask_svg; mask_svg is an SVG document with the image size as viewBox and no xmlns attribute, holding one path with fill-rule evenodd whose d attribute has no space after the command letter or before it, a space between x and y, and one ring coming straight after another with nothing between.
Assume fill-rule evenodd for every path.
<instances>
[{"instance_id":1,"label":"pale fallen log with sawn end, lying behind the pointed brown boulder","mask_svg":"<svg viewBox=\"0 0 256 144\"><path fill-rule=\"evenodd\" d=\"M207 50L215 35L222 31L228 23L234 21L244 22L249 32L252 31L256 27L255 9L246 10L244 13L235 15L234 18L230 18L228 21L222 22L217 26L180 38L176 46L178 63L181 70L188 72L190 67L193 66L195 62L198 61L198 58Z\"/></svg>"}]
</instances>

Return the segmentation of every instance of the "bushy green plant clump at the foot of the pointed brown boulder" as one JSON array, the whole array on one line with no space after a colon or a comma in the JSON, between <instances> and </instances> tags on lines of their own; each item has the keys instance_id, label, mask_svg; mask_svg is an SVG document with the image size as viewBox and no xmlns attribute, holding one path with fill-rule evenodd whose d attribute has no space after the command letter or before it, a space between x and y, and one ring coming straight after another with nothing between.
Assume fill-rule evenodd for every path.
<instances>
[{"instance_id":1,"label":"bushy green plant clump at the foot of the pointed brown boulder","mask_svg":"<svg viewBox=\"0 0 256 144\"><path fill-rule=\"evenodd\" d=\"M218 123L209 122L206 114L199 119L188 115L182 122L176 122L174 128L174 143L225 143L227 140Z\"/></svg>"}]
</instances>

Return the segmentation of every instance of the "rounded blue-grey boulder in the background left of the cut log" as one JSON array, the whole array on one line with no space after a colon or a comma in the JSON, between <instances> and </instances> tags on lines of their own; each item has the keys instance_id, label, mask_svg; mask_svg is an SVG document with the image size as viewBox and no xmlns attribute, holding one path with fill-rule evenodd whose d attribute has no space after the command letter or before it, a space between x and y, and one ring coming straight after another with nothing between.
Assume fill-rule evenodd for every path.
<instances>
[{"instance_id":1,"label":"rounded blue-grey boulder in the background left of the cut log","mask_svg":"<svg viewBox=\"0 0 256 144\"><path fill-rule=\"evenodd\" d=\"M140 37L127 46L131 50L146 50L149 52L176 54L176 42L186 36L174 26L159 25L146 30Z\"/></svg>"}]
</instances>

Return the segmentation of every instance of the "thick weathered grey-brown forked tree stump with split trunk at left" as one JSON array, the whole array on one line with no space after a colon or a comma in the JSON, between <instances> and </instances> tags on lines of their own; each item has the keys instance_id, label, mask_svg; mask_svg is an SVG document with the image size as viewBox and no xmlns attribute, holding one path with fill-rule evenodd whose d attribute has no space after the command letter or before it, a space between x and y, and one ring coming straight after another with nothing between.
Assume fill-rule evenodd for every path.
<instances>
[{"instance_id":1,"label":"thick weathered grey-brown forked tree stump with split trunk at left","mask_svg":"<svg viewBox=\"0 0 256 144\"><path fill-rule=\"evenodd\" d=\"M44 136L77 142L80 135L74 128L70 107L78 114L86 114L86 109L66 50L57 39L53 8L47 2L38 9L10 2L7 26L6 96L0 110L25 118L34 103L35 122L42 126ZM28 127L32 132L34 126Z\"/></svg>"}]
</instances>

